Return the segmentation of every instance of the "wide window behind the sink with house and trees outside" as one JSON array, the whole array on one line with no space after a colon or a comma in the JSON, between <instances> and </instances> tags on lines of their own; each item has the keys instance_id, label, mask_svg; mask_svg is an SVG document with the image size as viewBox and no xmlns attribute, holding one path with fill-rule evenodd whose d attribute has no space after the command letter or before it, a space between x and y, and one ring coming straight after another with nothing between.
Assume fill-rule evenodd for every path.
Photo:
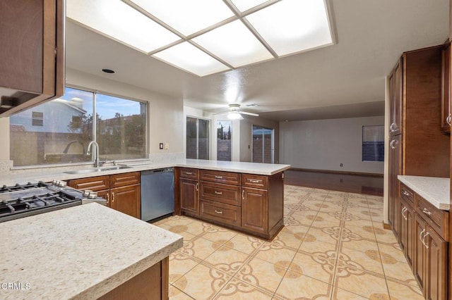
<instances>
[{"instance_id":1,"label":"wide window behind the sink with house and trees outside","mask_svg":"<svg viewBox=\"0 0 452 300\"><path fill-rule=\"evenodd\" d=\"M11 115L13 165L92 161L85 153L93 140L101 160L145 158L146 107L144 102L66 87L61 98Z\"/></svg>"}]
</instances>

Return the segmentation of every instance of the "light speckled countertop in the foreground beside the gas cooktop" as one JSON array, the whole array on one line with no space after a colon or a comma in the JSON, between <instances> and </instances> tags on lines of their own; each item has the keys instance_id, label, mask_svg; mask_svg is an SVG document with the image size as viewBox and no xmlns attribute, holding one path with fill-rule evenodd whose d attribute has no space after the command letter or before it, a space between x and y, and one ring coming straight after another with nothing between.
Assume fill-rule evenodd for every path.
<instances>
[{"instance_id":1,"label":"light speckled countertop in the foreground beside the gas cooktop","mask_svg":"<svg viewBox=\"0 0 452 300\"><path fill-rule=\"evenodd\" d=\"M0 299L96 299L182 247L180 235L95 203L0 230Z\"/></svg>"}]
</instances>

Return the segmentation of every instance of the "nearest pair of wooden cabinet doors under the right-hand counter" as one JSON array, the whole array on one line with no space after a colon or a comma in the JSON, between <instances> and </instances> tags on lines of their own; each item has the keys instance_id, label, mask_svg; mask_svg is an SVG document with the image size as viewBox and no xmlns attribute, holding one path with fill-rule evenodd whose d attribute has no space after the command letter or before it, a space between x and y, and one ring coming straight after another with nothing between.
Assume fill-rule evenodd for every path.
<instances>
[{"instance_id":1,"label":"nearest pair of wooden cabinet doors under the right-hand counter","mask_svg":"<svg viewBox=\"0 0 452 300\"><path fill-rule=\"evenodd\" d=\"M425 299L447 299L447 251L444 241L415 214L415 277Z\"/></svg>"}]
</instances>

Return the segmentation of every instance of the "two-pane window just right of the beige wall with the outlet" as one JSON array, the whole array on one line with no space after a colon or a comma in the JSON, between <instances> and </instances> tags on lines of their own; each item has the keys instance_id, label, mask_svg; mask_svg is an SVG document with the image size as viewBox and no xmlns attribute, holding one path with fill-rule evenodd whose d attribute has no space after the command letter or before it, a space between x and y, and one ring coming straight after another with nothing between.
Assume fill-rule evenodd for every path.
<instances>
[{"instance_id":1,"label":"two-pane window just right of the beige wall with the outlet","mask_svg":"<svg viewBox=\"0 0 452 300\"><path fill-rule=\"evenodd\" d=\"M186 117L186 158L209 159L209 120Z\"/></svg>"}]
</instances>

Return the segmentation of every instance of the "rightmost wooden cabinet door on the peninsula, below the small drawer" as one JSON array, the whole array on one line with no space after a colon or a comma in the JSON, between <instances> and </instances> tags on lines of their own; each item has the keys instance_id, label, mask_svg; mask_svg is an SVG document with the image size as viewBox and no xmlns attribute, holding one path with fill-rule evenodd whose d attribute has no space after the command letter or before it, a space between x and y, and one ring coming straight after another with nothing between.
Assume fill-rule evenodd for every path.
<instances>
[{"instance_id":1,"label":"rightmost wooden cabinet door on the peninsula, below the small drawer","mask_svg":"<svg viewBox=\"0 0 452 300\"><path fill-rule=\"evenodd\" d=\"M242 228L268 233L268 192L242 188Z\"/></svg>"}]
</instances>

